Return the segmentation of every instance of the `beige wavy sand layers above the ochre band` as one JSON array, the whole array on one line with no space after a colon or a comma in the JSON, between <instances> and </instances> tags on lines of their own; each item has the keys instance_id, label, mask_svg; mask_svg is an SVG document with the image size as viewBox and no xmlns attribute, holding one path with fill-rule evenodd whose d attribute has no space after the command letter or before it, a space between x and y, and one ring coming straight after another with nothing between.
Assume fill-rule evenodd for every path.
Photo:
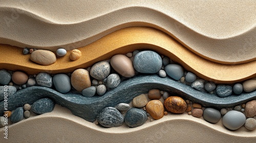
<instances>
[{"instance_id":1,"label":"beige wavy sand layers above the ochre band","mask_svg":"<svg viewBox=\"0 0 256 143\"><path fill-rule=\"evenodd\" d=\"M75 49L125 27L160 29L219 63L256 59L253 1L1 1L0 43Z\"/></svg>"}]
</instances>

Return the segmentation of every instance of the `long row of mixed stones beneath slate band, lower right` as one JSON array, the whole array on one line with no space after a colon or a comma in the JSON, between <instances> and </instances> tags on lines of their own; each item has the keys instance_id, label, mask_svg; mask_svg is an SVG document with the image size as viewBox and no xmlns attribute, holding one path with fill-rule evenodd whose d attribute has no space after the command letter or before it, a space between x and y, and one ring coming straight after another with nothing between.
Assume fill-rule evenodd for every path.
<instances>
[{"instance_id":1,"label":"long row of mixed stones beneath slate band, lower right","mask_svg":"<svg viewBox=\"0 0 256 143\"><path fill-rule=\"evenodd\" d=\"M96 124L103 127L118 127L123 123L130 127L143 125L148 119L159 120L168 112L181 114L187 112L195 117L202 117L205 121L215 124L222 118L222 124L229 130L237 130L243 125L248 130L256 128L256 100L242 106L245 110L223 108L221 111L214 108L204 108L200 104L191 103L178 96L169 96L168 92L152 89L147 94L140 94L132 101L132 105L119 103L116 108L106 107L98 115ZM254 111L254 112L253 112ZM253 118L254 117L254 118ZM247 119L246 119L247 118Z\"/></svg>"}]
</instances>

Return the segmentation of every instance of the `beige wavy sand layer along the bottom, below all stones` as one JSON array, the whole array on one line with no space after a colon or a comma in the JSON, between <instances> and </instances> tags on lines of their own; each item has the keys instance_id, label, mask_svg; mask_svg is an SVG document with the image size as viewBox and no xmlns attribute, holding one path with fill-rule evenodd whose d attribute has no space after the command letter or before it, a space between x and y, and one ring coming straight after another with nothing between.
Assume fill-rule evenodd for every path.
<instances>
[{"instance_id":1,"label":"beige wavy sand layer along the bottom, below all stones","mask_svg":"<svg viewBox=\"0 0 256 143\"><path fill-rule=\"evenodd\" d=\"M0 129L2 135L3 129ZM52 112L27 118L10 125L8 130L8 142L253 142L256 139L256 130L241 127L230 131L221 121L210 124L203 118L186 113L169 113L160 120L137 128L126 128L124 125L103 128L57 104ZM6 141L4 138L0 140Z\"/></svg>"}]
</instances>

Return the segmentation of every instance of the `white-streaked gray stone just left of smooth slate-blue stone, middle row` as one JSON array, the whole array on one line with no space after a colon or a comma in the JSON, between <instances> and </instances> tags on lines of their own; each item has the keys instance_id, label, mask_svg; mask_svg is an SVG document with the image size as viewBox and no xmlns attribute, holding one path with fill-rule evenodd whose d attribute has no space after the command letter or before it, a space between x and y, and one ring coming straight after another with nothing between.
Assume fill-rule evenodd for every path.
<instances>
[{"instance_id":1,"label":"white-streaked gray stone just left of smooth slate-blue stone, middle row","mask_svg":"<svg viewBox=\"0 0 256 143\"><path fill-rule=\"evenodd\" d=\"M36 83L44 87L52 87L52 77L47 73L39 73L36 78Z\"/></svg>"}]
</instances>

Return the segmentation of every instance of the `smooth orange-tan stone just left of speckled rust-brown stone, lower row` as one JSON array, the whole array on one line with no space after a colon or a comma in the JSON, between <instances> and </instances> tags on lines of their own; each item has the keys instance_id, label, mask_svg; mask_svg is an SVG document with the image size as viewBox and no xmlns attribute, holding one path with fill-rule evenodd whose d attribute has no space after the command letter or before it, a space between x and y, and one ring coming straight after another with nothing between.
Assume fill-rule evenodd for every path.
<instances>
[{"instance_id":1,"label":"smooth orange-tan stone just left of speckled rust-brown stone, lower row","mask_svg":"<svg viewBox=\"0 0 256 143\"><path fill-rule=\"evenodd\" d=\"M163 103L159 100L152 100L146 104L146 111L155 119L158 120L164 115Z\"/></svg>"}]
</instances>

